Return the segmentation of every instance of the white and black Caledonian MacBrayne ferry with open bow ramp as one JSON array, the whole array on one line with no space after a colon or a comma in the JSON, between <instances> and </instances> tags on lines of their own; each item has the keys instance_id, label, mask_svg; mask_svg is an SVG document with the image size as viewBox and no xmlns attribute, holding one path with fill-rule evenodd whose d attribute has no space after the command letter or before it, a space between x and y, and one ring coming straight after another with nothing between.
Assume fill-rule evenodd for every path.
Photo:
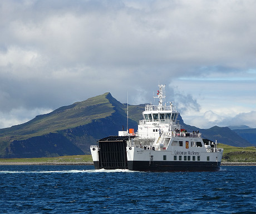
<instances>
[{"instance_id":1,"label":"white and black Caledonian MacBrayne ferry with open bow ramp","mask_svg":"<svg viewBox=\"0 0 256 214\"><path fill-rule=\"evenodd\" d=\"M95 169L132 171L218 171L223 148L204 141L198 131L181 128L173 102L163 104L165 85L159 85L158 106L146 104L138 130L102 138L91 146ZM127 114L128 115L128 114Z\"/></svg>"}]
</instances>

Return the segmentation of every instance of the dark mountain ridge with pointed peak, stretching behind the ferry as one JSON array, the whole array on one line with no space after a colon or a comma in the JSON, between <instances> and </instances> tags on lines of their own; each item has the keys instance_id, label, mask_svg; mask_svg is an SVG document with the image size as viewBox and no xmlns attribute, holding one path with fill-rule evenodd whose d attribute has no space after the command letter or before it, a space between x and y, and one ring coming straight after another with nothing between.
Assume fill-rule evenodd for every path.
<instances>
[{"instance_id":1,"label":"dark mountain ridge with pointed peak, stretching behind the ferry","mask_svg":"<svg viewBox=\"0 0 256 214\"><path fill-rule=\"evenodd\" d=\"M129 128L137 131L142 120L145 104L129 105ZM33 120L10 128L0 129L0 157L57 157L90 153L90 145L103 137L118 135L126 130L127 104L120 103L111 94L63 106L51 113L39 115ZM199 129L184 123L183 128L192 132L199 130L204 138L217 140L230 146L252 146L247 140L228 127Z\"/></svg>"}]
</instances>

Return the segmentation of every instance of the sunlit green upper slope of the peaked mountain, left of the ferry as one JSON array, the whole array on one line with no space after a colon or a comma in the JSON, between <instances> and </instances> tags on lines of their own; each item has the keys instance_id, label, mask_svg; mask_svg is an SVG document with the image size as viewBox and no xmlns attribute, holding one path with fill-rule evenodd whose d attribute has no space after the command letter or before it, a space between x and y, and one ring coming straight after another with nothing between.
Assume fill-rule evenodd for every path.
<instances>
[{"instance_id":1,"label":"sunlit green upper slope of the peaked mountain, left of the ferry","mask_svg":"<svg viewBox=\"0 0 256 214\"><path fill-rule=\"evenodd\" d=\"M86 101L58 108L51 113L37 116L21 125L3 128L0 130L0 147L6 148L6 145L13 140L23 140L50 132L66 130L67 128L86 125L97 118L110 116L114 109L106 98L108 94L105 93L89 98ZM0 151L0 153L2 152Z\"/></svg>"}]
</instances>

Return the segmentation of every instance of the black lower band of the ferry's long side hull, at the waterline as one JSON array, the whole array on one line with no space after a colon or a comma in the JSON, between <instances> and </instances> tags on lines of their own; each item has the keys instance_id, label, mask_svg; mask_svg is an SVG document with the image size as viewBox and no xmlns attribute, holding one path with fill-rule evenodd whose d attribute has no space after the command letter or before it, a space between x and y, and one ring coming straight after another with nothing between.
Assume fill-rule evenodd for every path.
<instances>
[{"instance_id":1,"label":"black lower band of the ferry's long side hull, at the waterline","mask_svg":"<svg viewBox=\"0 0 256 214\"><path fill-rule=\"evenodd\" d=\"M128 161L128 170L154 172L219 171L220 162Z\"/></svg>"}]
</instances>

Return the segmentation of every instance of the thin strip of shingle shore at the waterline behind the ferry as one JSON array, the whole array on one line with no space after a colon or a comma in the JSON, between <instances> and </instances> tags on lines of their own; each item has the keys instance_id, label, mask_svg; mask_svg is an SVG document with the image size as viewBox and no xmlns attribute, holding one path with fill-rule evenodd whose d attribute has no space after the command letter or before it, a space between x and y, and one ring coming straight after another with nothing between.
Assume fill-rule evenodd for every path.
<instances>
[{"instance_id":1,"label":"thin strip of shingle shore at the waterline behind the ferry","mask_svg":"<svg viewBox=\"0 0 256 214\"><path fill-rule=\"evenodd\" d=\"M29 165L38 165L38 166L72 166L72 165L93 165L93 162L1 162L0 166L29 166ZM221 166L256 166L255 162L224 162L221 163Z\"/></svg>"}]
</instances>

